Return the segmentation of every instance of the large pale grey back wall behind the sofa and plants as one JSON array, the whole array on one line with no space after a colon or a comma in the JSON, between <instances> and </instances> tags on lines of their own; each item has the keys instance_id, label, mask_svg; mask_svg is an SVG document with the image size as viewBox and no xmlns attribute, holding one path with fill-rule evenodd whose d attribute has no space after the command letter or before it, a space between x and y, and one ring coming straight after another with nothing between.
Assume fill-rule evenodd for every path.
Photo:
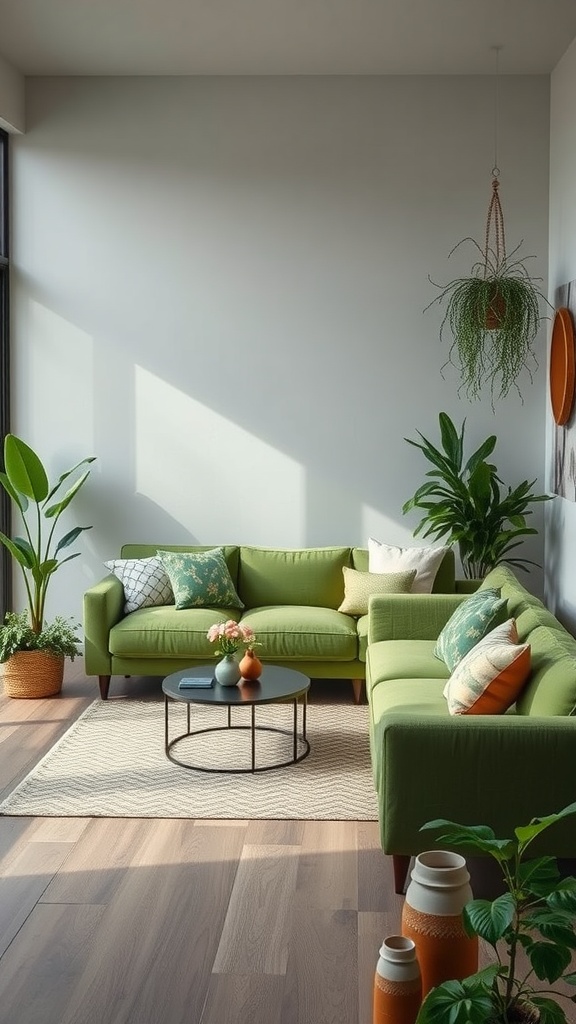
<instances>
[{"instance_id":1,"label":"large pale grey back wall behind the sofa and plants","mask_svg":"<svg viewBox=\"0 0 576 1024\"><path fill-rule=\"evenodd\" d=\"M501 81L508 243L543 276L548 99L546 78ZM98 458L51 610L79 614L123 541L415 543L401 507L427 465L403 438L441 410L543 487L544 332L524 404L494 415L443 379L422 313L427 274L467 272L447 255L483 239L490 79L31 80L27 122L13 429L54 472Z\"/></svg>"}]
</instances>

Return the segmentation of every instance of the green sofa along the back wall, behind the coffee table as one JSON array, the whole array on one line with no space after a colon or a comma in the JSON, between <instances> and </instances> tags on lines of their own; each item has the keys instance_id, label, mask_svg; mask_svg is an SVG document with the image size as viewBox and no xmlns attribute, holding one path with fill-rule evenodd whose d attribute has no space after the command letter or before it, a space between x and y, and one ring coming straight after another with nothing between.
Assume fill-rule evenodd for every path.
<instances>
[{"instance_id":1,"label":"green sofa along the back wall, behind the coffee table","mask_svg":"<svg viewBox=\"0 0 576 1024\"><path fill-rule=\"evenodd\" d=\"M213 547L213 546L211 546ZM121 558L147 558L164 551L206 551L207 546L125 544ZM349 679L360 700L366 676L368 615L338 611L344 596L342 568L368 570L364 548L276 549L222 546L230 573L245 607L139 608L124 614L124 590L114 575L84 595L84 656L87 675L98 676L108 697L111 676L166 676L215 660L206 634L213 623L234 618L251 626L265 663L298 669L311 678ZM455 563L448 551L435 592L454 593Z\"/></svg>"}]
</instances>

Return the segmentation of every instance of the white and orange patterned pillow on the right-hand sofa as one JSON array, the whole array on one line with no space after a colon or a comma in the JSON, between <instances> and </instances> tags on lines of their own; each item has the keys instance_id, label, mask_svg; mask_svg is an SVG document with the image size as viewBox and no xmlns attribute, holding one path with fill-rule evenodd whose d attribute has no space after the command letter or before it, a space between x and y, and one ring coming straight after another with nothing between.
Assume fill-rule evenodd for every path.
<instances>
[{"instance_id":1,"label":"white and orange patterned pillow on the right-hand sofa","mask_svg":"<svg viewBox=\"0 0 576 1024\"><path fill-rule=\"evenodd\" d=\"M489 633L456 666L448 681L450 714L502 715L530 676L530 644L499 640Z\"/></svg>"}]
</instances>

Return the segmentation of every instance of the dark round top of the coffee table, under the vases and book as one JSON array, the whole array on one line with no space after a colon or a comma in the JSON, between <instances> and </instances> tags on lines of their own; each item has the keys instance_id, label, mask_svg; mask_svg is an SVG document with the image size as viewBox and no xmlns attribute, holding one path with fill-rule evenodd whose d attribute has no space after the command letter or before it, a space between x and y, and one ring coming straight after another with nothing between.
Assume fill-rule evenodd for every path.
<instances>
[{"instance_id":1,"label":"dark round top of the coffee table, under the vases and book","mask_svg":"<svg viewBox=\"0 0 576 1024\"><path fill-rule=\"evenodd\" d=\"M209 689L178 689L180 679L187 676L212 679ZM295 669L283 669L277 665L264 665L257 680L241 679L236 686L221 686L214 679L213 665L199 665L181 672L172 672L162 683L162 690L175 700L184 703L206 705L259 705L274 703L303 696L310 690L310 679Z\"/></svg>"}]
</instances>

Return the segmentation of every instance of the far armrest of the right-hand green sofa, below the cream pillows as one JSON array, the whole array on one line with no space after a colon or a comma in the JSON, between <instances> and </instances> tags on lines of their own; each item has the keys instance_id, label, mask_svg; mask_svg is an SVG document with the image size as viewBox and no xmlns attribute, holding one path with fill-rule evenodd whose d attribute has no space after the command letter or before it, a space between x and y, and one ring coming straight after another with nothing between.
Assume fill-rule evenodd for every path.
<instances>
[{"instance_id":1,"label":"far armrest of the right-hand green sofa, below the cream pillows","mask_svg":"<svg viewBox=\"0 0 576 1024\"><path fill-rule=\"evenodd\" d=\"M466 594L373 594L368 602L368 643L436 640Z\"/></svg>"}]
</instances>

